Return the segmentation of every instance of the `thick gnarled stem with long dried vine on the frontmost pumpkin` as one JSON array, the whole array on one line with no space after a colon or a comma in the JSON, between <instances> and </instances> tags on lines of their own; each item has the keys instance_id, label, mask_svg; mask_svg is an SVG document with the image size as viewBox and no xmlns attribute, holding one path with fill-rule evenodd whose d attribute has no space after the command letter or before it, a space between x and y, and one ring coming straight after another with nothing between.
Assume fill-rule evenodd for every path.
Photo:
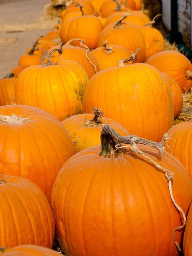
<instances>
[{"instance_id":1,"label":"thick gnarled stem with long dried vine on the frontmost pumpkin","mask_svg":"<svg viewBox=\"0 0 192 256\"><path fill-rule=\"evenodd\" d=\"M155 142L155 141L150 141L147 139L140 138L136 135L130 135L130 136L121 136L116 132L113 128L111 128L109 125L103 126L101 130L101 152L100 155L103 157L118 157L122 156L123 149L125 149L127 146L122 146L121 143L123 144L129 144L128 146L134 151L134 153L138 153L139 155L145 157L148 161L152 162L156 168L158 168L160 171L162 171L165 174L166 179L168 180L168 189L170 192L170 197L172 199L172 202L176 209L178 209L182 215L183 215L183 225L176 227L173 231L173 239L176 247L179 249L181 252L181 248L179 247L179 244L176 241L175 238L175 231L179 229L183 229L186 225L186 216L184 211L179 207L179 205L175 202L173 193L172 193L172 185L174 185L174 173L172 171L169 171L162 167L160 164L155 162L150 156L146 155L142 150L138 148L136 144L145 144L148 146L152 146L153 148L156 148L159 150L160 153L163 153L164 151L164 144L165 141L167 140L167 134L163 136L163 139L161 142ZM113 151L117 151L116 153ZM120 151L121 150L121 151Z\"/></svg>"}]
</instances>

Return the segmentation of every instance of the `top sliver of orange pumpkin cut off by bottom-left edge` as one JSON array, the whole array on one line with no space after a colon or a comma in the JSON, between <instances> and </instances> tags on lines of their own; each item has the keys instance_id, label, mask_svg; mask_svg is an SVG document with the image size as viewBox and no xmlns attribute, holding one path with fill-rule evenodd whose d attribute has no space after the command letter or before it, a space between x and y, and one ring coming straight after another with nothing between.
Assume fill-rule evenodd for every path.
<instances>
[{"instance_id":1,"label":"top sliver of orange pumpkin cut off by bottom-left edge","mask_svg":"<svg viewBox=\"0 0 192 256\"><path fill-rule=\"evenodd\" d=\"M53 249L38 245L18 245L2 252L4 256L58 256Z\"/></svg>"}]
</instances>

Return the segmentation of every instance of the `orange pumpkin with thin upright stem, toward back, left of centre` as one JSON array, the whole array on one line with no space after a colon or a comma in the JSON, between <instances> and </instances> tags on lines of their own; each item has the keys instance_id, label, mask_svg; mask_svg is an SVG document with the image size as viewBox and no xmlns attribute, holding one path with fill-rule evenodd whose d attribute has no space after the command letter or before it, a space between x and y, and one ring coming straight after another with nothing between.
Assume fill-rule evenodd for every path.
<instances>
[{"instance_id":1,"label":"orange pumpkin with thin upright stem, toward back, left of centre","mask_svg":"<svg viewBox=\"0 0 192 256\"><path fill-rule=\"evenodd\" d=\"M94 15L86 15L82 7L82 16L69 18L60 28L60 39L63 43L73 38L81 38L89 49L96 48L98 35L103 30L103 23ZM74 45L78 45L74 42Z\"/></svg>"}]
</instances>

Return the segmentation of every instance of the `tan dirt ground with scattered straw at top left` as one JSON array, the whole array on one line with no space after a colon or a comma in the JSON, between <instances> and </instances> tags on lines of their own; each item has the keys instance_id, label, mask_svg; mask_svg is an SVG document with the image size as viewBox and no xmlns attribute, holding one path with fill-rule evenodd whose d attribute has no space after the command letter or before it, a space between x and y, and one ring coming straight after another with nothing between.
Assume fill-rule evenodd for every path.
<instances>
[{"instance_id":1,"label":"tan dirt ground with scattered straw at top left","mask_svg":"<svg viewBox=\"0 0 192 256\"><path fill-rule=\"evenodd\" d=\"M51 0L0 0L0 79L58 22L59 18L47 19L47 4Z\"/></svg>"}]
</instances>

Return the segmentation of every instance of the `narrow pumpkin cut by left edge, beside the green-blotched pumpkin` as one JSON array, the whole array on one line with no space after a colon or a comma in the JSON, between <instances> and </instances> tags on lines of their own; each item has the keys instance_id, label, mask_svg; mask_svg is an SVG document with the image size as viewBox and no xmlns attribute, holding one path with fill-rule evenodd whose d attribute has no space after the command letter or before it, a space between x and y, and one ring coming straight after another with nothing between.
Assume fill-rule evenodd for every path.
<instances>
[{"instance_id":1,"label":"narrow pumpkin cut by left edge, beside the green-blotched pumpkin","mask_svg":"<svg viewBox=\"0 0 192 256\"><path fill-rule=\"evenodd\" d=\"M17 78L13 73L0 79L0 106L15 103L15 85Z\"/></svg>"}]
</instances>

